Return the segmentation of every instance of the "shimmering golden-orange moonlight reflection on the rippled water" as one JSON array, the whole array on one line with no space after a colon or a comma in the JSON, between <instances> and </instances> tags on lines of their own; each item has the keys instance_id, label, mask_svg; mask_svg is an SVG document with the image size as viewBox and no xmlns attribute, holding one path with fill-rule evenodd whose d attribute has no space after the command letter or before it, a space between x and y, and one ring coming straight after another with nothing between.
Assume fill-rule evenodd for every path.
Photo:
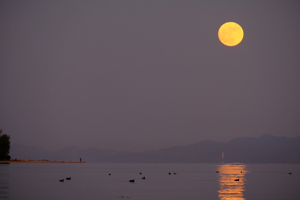
<instances>
[{"instance_id":1,"label":"shimmering golden-orange moonlight reflection on the rippled water","mask_svg":"<svg viewBox=\"0 0 300 200\"><path fill-rule=\"evenodd\" d=\"M245 200L243 191L246 183L247 166L243 163L222 164L217 166L220 186L220 200ZM241 173L242 171L242 173ZM234 181L235 179L239 181Z\"/></svg>"}]
</instances>

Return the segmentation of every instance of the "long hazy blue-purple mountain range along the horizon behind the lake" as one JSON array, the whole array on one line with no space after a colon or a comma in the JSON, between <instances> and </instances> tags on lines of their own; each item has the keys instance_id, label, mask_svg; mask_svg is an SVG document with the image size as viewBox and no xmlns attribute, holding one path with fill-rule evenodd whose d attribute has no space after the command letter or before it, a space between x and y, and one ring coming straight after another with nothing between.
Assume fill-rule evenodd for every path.
<instances>
[{"instance_id":1,"label":"long hazy blue-purple mountain range along the horizon behind the lake","mask_svg":"<svg viewBox=\"0 0 300 200\"><path fill-rule=\"evenodd\" d=\"M76 146L51 152L16 143L10 146L11 158L23 160L79 161L82 158L90 163L300 163L300 136L287 138L269 134L259 138L239 137L227 143L205 140L139 153Z\"/></svg>"}]
</instances>

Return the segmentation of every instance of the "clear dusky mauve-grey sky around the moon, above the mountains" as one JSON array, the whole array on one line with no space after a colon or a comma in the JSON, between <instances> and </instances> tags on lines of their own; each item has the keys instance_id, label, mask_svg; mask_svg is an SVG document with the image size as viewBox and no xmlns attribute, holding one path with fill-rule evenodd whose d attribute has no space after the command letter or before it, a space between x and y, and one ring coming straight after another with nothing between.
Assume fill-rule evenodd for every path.
<instances>
[{"instance_id":1,"label":"clear dusky mauve-grey sky around the moon, above the mountains","mask_svg":"<svg viewBox=\"0 0 300 200\"><path fill-rule=\"evenodd\" d=\"M300 1L0 1L11 142L148 151L300 135ZM218 30L238 23L225 46Z\"/></svg>"}]
</instances>

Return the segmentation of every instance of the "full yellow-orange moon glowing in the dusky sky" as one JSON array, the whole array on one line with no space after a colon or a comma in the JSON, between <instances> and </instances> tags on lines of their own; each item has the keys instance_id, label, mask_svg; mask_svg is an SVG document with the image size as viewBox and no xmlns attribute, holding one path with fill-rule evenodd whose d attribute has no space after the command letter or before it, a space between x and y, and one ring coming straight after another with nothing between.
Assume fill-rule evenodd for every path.
<instances>
[{"instance_id":1,"label":"full yellow-orange moon glowing in the dusky sky","mask_svg":"<svg viewBox=\"0 0 300 200\"><path fill-rule=\"evenodd\" d=\"M240 43L244 37L243 29L234 22L223 24L218 32L220 41L227 46L235 46Z\"/></svg>"}]
</instances>

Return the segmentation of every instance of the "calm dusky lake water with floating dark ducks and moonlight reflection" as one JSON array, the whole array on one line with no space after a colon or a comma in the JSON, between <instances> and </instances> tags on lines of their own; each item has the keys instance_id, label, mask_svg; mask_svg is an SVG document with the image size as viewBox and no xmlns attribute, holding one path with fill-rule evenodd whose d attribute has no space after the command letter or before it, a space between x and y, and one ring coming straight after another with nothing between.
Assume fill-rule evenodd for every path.
<instances>
[{"instance_id":1,"label":"calm dusky lake water with floating dark ducks and moonlight reflection","mask_svg":"<svg viewBox=\"0 0 300 200\"><path fill-rule=\"evenodd\" d=\"M0 198L300 199L300 164L0 164Z\"/></svg>"}]
</instances>

